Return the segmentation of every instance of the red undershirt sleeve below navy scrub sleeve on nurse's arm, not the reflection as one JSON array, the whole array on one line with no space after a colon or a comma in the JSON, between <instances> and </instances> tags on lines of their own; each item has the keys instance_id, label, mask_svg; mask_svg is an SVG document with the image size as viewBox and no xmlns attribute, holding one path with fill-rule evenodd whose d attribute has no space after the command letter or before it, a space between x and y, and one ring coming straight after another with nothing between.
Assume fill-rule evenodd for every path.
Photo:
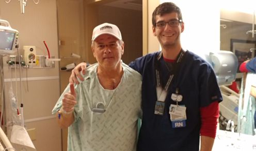
<instances>
[{"instance_id":1,"label":"red undershirt sleeve below navy scrub sleeve on nurse's arm, not the reflection","mask_svg":"<svg viewBox=\"0 0 256 151\"><path fill-rule=\"evenodd\" d=\"M206 107L200 107L201 136L215 138L219 118L219 103L215 101Z\"/></svg>"}]
</instances>

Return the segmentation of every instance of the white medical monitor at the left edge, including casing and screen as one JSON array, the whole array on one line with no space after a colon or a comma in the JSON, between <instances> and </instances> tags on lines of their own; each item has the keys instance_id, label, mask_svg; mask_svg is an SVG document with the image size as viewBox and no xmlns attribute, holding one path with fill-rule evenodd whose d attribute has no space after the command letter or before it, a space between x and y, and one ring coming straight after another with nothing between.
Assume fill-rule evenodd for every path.
<instances>
[{"instance_id":1,"label":"white medical monitor at the left edge, including casing and screen","mask_svg":"<svg viewBox=\"0 0 256 151\"><path fill-rule=\"evenodd\" d=\"M3 26L5 25L5 26ZM0 54L12 54L18 47L19 32L5 20L0 20Z\"/></svg>"}]
</instances>

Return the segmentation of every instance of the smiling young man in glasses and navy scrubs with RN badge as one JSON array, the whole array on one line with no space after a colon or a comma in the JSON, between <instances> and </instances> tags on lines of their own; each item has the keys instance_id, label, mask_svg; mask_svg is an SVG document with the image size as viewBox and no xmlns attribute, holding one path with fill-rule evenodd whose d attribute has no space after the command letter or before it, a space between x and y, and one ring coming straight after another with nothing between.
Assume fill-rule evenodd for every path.
<instances>
[{"instance_id":1,"label":"smiling young man in glasses and navy scrubs with RN badge","mask_svg":"<svg viewBox=\"0 0 256 151\"><path fill-rule=\"evenodd\" d=\"M152 14L153 34L162 51L130 63L142 75L142 124L137 150L211 150L222 101L212 67L198 55L182 49L184 23L180 8L163 3ZM70 82L83 80L85 63Z\"/></svg>"}]
</instances>

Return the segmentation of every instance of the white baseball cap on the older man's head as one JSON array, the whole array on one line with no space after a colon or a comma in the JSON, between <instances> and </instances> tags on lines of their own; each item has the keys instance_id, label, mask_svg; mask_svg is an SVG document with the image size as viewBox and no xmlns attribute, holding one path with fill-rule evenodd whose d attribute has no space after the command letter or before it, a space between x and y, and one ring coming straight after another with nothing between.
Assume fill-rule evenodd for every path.
<instances>
[{"instance_id":1,"label":"white baseball cap on the older man's head","mask_svg":"<svg viewBox=\"0 0 256 151\"><path fill-rule=\"evenodd\" d=\"M95 39L97 39L98 36L102 34L111 34L115 36L118 40L122 40L121 32L116 25L103 23L93 29L91 41L94 41Z\"/></svg>"}]
</instances>

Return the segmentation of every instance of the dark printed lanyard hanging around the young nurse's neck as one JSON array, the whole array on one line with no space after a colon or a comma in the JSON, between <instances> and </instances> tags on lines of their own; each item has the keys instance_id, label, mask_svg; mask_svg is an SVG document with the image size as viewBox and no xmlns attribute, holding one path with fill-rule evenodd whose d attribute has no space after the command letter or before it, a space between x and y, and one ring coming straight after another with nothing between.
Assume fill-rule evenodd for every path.
<instances>
[{"instance_id":1,"label":"dark printed lanyard hanging around the young nurse's neck","mask_svg":"<svg viewBox=\"0 0 256 151\"><path fill-rule=\"evenodd\" d=\"M163 89L163 85L161 84L161 80L160 80L160 59L162 58L162 51L159 53L159 55L157 56L156 60L155 60L155 74L156 74L156 95L157 95L157 101L161 101L161 102L165 102L166 96L167 96L167 90L173 80L173 77L175 74L177 74L178 68L181 64L182 58L185 54L185 51L183 49L181 49L180 53L178 54L178 59L175 62L175 66L174 66L174 72L172 74L170 74L170 77L166 83L166 85L164 86Z\"/></svg>"}]
</instances>

